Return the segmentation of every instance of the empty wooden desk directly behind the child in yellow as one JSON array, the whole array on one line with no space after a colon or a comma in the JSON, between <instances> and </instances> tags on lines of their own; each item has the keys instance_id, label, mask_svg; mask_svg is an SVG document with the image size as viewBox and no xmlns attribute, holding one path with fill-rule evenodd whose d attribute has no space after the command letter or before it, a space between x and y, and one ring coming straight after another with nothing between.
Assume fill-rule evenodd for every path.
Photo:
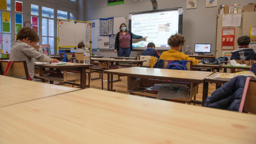
<instances>
[{"instance_id":1,"label":"empty wooden desk directly behind the child in yellow","mask_svg":"<svg viewBox=\"0 0 256 144\"><path fill-rule=\"evenodd\" d=\"M122 69L105 70L103 73L108 74L108 90L113 91L113 75L127 76L127 91L135 90L143 83L142 80L146 79L161 79L170 81L204 83L204 78L213 74L209 71L191 71L191 70L173 70L173 69L158 69L158 68L142 68L131 67ZM135 77L140 77L139 81L134 80ZM143 79L146 78L146 79ZM145 84L147 82L144 82ZM166 83L166 82L162 82ZM208 89L208 87L207 87ZM204 100L202 100L204 101Z\"/></svg>"}]
</instances>

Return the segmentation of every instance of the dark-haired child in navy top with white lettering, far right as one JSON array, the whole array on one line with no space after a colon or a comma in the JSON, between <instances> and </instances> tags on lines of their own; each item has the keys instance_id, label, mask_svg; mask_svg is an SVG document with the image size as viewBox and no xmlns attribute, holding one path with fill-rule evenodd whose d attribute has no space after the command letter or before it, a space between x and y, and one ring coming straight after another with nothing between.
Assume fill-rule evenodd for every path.
<instances>
[{"instance_id":1,"label":"dark-haired child in navy top with white lettering, far right","mask_svg":"<svg viewBox=\"0 0 256 144\"><path fill-rule=\"evenodd\" d=\"M231 52L230 60L256 60L256 53L253 49L249 48L251 42L250 36L241 36L237 38L237 44L239 47Z\"/></svg>"}]
</instances>

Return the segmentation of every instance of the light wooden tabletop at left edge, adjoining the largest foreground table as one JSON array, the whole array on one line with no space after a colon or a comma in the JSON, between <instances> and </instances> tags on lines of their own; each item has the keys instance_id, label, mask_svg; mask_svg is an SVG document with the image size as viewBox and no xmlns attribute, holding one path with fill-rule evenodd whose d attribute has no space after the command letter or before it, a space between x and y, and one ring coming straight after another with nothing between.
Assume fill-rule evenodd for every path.
<instances>
[{"instance_id":1,"label":"light wooden tabletop at left edge, adjoining the largest foreground table","mask_svg":"<svg viewBox=\"0 0 256 144\"><path fill-rule=\"evenodd\" d=\"M0 107L80 90L0 75Z\"/></svg>"}]
</instances>

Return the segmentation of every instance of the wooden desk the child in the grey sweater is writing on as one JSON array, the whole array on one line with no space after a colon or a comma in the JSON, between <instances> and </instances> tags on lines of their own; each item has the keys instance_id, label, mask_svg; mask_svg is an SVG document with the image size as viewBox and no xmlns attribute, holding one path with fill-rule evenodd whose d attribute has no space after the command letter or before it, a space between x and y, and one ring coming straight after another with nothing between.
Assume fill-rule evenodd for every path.
<instances>
[{"instance_id":1,"label":"wooden desk the child in the grey sweater is writing on","mask_svg":"<svg viewBox=\"0 0 256 144\"><path fill-rule=\"evenodd\" d=\"M46 78L43 77L43 74L45 73L50 73L50 72L54 72L54 71L65 71L65 73L67 74L67 71L80 71L80 82L81 84L78 84L79 86L81 86L81 89L85 89L85 87L89 87L89 85L86 85L86 69L91 69L93 65L84 65L83 63L71 63L71 62L67 62L66 65L54 65L54 64L35 64L35 67L39 67L39 77L40 78L44 78L44 79L49 79L50 81L55 81L55 79L51 79L51 78ZM52 70L44 70L44 68L50 68ZM53 70L55 69L55 70ZM70 83L67 82L70 79L63 79L63 82L69 83L69 84L73 84L73 85L77 85L75 83Z\"/></svg>"}]
</instances>

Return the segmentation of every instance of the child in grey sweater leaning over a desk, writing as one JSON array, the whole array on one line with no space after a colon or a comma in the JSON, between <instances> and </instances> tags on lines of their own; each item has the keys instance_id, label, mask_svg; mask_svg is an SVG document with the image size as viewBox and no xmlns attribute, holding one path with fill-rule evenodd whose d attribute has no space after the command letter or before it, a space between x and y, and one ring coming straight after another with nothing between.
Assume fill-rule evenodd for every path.
<instances>
[{"instance_id":1,"label":"child in grey sweater leaning over a desk, writing","mask_svg":"<svg viewBox=\"0 0 256 144\"><path fill-rule=\"evenodd\" d=\"M17 41L13 42L10 61L26 61L29 76L35 81L34 58L41 62L58 62L57 59L49 58L47 55L36 51L33 45L39 42L39 37L35 29L23 27L18 31Z\"/></svg>"}]
</instances>

